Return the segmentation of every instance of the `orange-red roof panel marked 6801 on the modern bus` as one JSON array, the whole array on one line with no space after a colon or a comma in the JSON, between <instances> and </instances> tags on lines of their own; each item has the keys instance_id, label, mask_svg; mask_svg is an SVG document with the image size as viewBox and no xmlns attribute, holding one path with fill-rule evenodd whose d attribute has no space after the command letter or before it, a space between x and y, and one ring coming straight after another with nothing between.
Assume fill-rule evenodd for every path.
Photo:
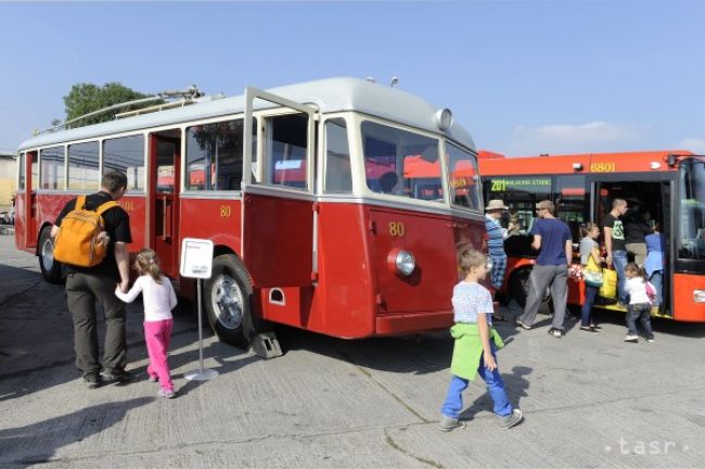
<instances>
[{"instance_id":1,"label":"orange-red roof panel marked 6801 on the modern bus","mask_svg":"<svg viewBox=\"0 0 705 469\"><path fill-rule=\"evenodd\" d=\"M691 156L687 150L661 150L621 153L577 153L542 156L503 156L480 150L483 175L501 174L585 174L672 170L666 164L669 154ZM652 163L654 166L652 166ZM655 165L655 164L658 165ZM579 165L576 167L576 165Z\"/></svg>"}]
</instances>

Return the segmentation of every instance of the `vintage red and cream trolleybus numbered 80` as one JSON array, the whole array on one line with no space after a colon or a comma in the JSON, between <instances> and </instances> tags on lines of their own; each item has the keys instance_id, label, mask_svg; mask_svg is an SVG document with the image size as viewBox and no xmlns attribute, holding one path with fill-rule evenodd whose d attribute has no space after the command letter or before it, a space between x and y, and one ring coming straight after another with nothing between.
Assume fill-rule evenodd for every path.
<instances>
[{"instance_id":1,"label":"vintage red and cream trolleybus numbered 80","mask_svg":"<svg viewBox=\"0 0 705 469\"><path fill-rule=\"evenodd\" d=\"M130 249L154 249L180 294L194 290L181 240L215 243L204 304L226 342L271 324L341 338L452 324L457 249L483 249L485 228L474 144L450 111L354 78L185 104L22 143L16 245L44 278L62 278L61 207L120 169Z\"/></svg>"}]
</instances>

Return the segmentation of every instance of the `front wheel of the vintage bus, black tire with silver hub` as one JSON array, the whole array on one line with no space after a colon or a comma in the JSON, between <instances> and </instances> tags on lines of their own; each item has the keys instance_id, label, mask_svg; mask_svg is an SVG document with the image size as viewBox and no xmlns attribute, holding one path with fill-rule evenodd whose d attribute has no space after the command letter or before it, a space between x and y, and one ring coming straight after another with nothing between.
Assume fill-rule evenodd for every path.
<instances>
[{"instance_id":1,"label":"front wheel of the vintage bus, black tire with silver hub","mask_svg":"<svg viewBox=\"0 0 705 469\"><path fill-rule=\"evenodd\" d=\"M246 351L253 338L267 328L253 314L252 281L234 254L213 261L213 275L205 281L203 300L208 322L222 342Z\"/></svg>"}]
</instances>

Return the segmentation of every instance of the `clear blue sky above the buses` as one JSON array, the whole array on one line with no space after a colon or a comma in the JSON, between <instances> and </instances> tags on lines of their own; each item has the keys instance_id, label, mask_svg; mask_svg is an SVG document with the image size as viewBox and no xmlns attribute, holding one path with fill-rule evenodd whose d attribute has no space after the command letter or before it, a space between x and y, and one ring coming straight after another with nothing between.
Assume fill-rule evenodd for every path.
<instances>
[{"instance_id":1,"label":"clear blue sky above the buses","mask_svg":"<svg viewBox=\"0 0 705 469\"><path fill-rule=\"evenodd\" d=\"M0 149L72 85L236 96L374 77L508 155L705 153L705 2L2 2Z\"/></svg>"}]
</instances>

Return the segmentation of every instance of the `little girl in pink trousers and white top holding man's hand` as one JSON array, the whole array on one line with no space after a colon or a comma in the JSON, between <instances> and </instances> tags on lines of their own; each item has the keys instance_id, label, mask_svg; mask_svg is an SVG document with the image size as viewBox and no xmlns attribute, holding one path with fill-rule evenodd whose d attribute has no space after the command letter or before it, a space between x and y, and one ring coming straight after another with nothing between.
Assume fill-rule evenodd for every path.
<instances>
[{"instance_id":1,"label":"little girl in pink trousers and white top holding man's hand","mask_svg":"<svg viewBox=\"0 0 705 469\"><path fill-rule=\"evenodd\" d=\"M167 352L171 340L174 319L171 309L177 305L176 293L168 278L159 270L156 253L151 249L143 249L137 254L133 264L134 270L140 275L132 288L127 293L118 289L115 294L125 303L132 303L142 292L144 303L144 341L150 356L146 373L151 382L159 382L157 395L174 397L174 383L169 376Z\"/></svg>"}]
</instances>

